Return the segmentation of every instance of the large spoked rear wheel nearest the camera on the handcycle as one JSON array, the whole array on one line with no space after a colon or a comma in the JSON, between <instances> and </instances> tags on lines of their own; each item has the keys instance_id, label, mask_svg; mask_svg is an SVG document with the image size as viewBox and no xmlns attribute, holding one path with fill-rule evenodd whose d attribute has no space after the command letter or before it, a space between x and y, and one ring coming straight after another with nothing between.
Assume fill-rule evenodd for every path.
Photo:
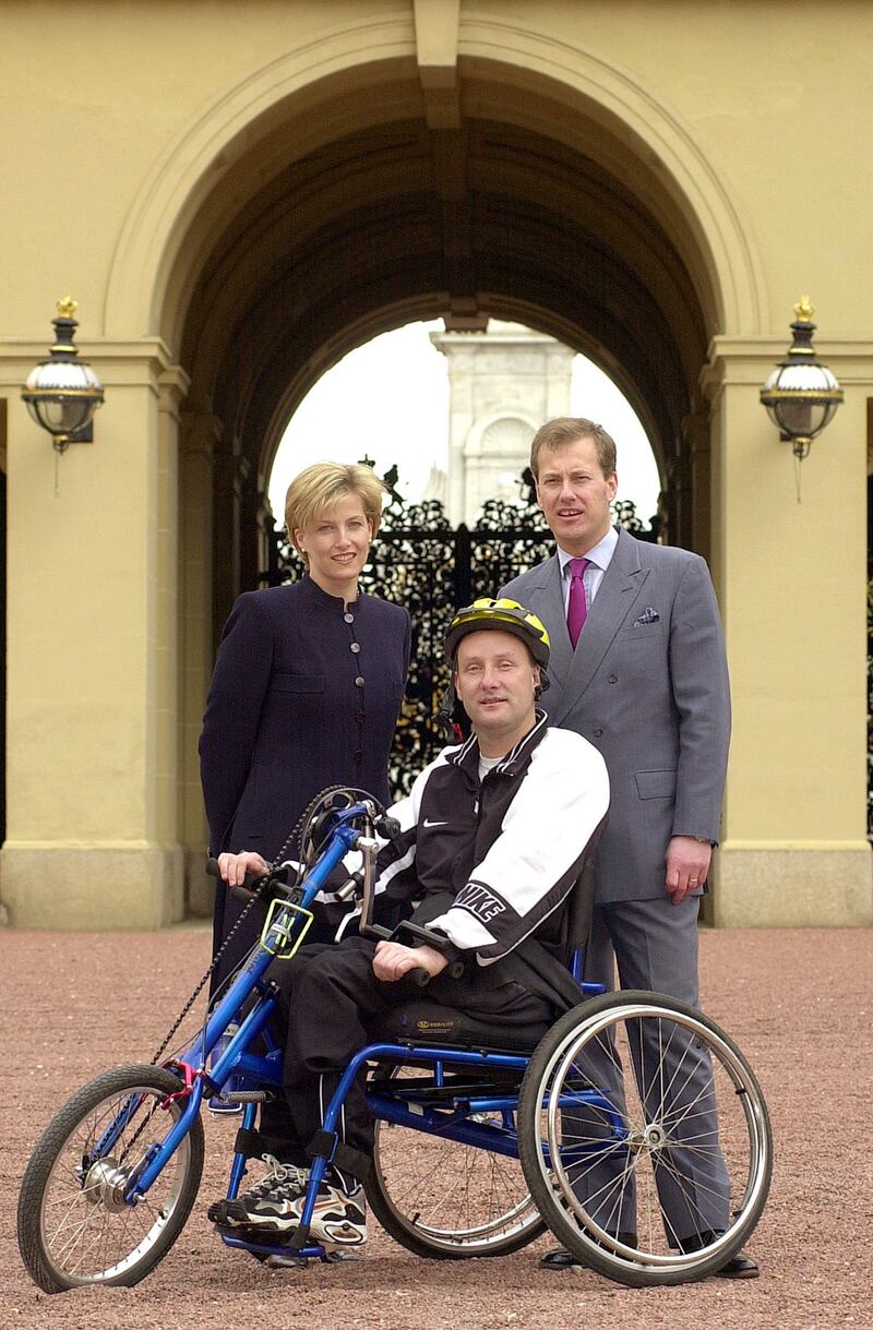
<instances>
[{"instance_id":1,"label":"large spoked rear wheel nearest the camera on the handcycle","mask_svg":"<svg viewBox=\"0 0 873 1330\"><path fill-rule=\"evenodd\" d=\"M651 992L603 994L550 1029L522 1084L519 1146L562 1246L636 1287L701 1279L736 1256L773 1166L740 1049L693 1007Z\"/></svg>"}]
</instances>

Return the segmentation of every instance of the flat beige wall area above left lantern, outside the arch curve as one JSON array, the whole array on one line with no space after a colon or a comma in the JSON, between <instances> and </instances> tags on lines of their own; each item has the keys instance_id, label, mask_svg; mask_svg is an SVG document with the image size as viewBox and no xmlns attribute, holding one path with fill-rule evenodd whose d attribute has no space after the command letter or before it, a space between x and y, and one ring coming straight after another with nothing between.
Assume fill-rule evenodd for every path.
<instances>
[{"instance_id":1,"label":"flat beige wall area above left lantern, outside the arch curve","mask_svg":"<svg viewBox=\"0 0 873 1330\"><path fill-rule=\"evenodd\" d=\"M112 0L90 0L71 23L57 0L5 5L3 157L16 198L16 217L4 222L16 274L4 301L8 329L41 342L47 314L72 285L89 335L98 335L120 233L161 158L278 52L353 25L362 8L134 0L121 15Z\"/></svg>"}]
</instances>

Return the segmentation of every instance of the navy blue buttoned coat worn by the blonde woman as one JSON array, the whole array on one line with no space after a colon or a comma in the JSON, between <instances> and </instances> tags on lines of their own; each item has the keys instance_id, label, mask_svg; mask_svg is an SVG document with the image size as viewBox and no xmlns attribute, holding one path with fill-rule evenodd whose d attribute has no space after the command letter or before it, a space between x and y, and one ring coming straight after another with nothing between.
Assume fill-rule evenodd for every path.
<instances>
[{"instance_id":1,"label":"navy blue buttoned coat worn by the blonde woman","mask_svg":"<svg viewBox=\"0 0 873 1330\"><path fill-rule=\"evenodd\" d=\"M342 600L310 577L240 596L218 646L200 737L212 854L257 850L273 859L327 785L359 786L389 802L410 633L399 605L361 595L345 613ZM220 886L217 943L237 915ZM249 922L246 948L260 928Z\"/></svg>"}]
</instances>

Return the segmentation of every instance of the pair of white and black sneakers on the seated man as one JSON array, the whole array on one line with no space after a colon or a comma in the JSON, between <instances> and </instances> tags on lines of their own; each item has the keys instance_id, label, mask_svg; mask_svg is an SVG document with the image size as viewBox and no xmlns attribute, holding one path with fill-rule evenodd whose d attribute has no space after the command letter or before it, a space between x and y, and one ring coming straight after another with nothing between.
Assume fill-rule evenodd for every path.
<instances>
[{"instance_id":1,"label":"pair of white and black sneakers on the seated man","mask_svg":"<svg viewBox=\"0 0 873 1330\"><path fill-rule=\"evenodd\" d=\"M309 1169L279 1164L271 1154L263 1160L270 1172L236 1201L218 1201L209 1208L209 1218L218 1228L256 1234L290 1236L299 1228L309 1185ZM314 1242L326 1246L361 1246L367 1241L363 1188L355 1184L349 1192L335 1177L325 1178L315 1197L309 1228Z\"/></svg>"}]
</instances>

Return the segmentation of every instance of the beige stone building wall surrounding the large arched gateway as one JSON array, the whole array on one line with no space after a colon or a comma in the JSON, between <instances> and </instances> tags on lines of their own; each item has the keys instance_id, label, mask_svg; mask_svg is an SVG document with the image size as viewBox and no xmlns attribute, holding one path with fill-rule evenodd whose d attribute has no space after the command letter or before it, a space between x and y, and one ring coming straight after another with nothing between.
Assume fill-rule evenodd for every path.
<instances>
[{"instance_id":1,"label":"beige stone building wall surrounding the large arched gateway","mask_svg":"<svg viewBox=\"0 0 873 1330\"><path fill-rule=\"evenodd\" d=\"M213 560L218 459L252 450L238 472L250 489L237 505L250 511L294 394L355 339L462 297L490 302L502 318L539 310L544 331L600 358L668 450L675 438L641 374L651 355L653 382L664 378L665 338L635 306L640 281L675 331L676 366L692 384L681 424L689 479L676 492L684 485L691 505L684 539L711 555L728 633L736 737L717 916L870 922L873 11L836 0L822 16L821 7L777 0L90 0L75 21L60 0L3 7L9 738L0 899L13 923L141 926L182 910L184 857L193 862L204 843L193 745L212 664L210 588L225 579L233 589L232 572ZM366 213L374 181L389 245L399 234L390 200L422 168L399 156L379 165L374 153L371 170L361 154L319 189L307 177L305 188L289 186L291 206L275 194L273 231L234 250L234 227L254 237L266 225L266 203L246 213L257 190L295 164L326 161L343 136L401 122L433 138L439 243L455 275L475 273L484 243L466 231L474 168L479 197L512 189L528 218L542 200L563 207L568 225L580 200L560 153L594 162L592 180L611 170L631 202L611 213L608 192L591 196L588 219L616 271L627 258L631 294L611 278L603 301L612 291L611 317L624 319L623 344L639 359L611 351L606 332L594 336L583 294L559 307L562 265L567 279L575 274L572 245L558 238L539 303L508 283L386 285L345 325L319 332L299 364L283 362L287 383L271 387L269 426L217 415L229 339L242 314L258 323L246 293L273 269L275 331L252 343L253 360L279 339L289 309L282 246L358 196ZM486 122L554 142L554 164L540 150L532 165L504 169L480 136L458 165L455 140L438 136ZM649 251L643 214L672 250ZM498 225L486 247L508 254L516 235ZM522 269L542 245L538 234L512 263ZM349 291L361 290L366 246L357 250L350 237L331 262ZM106 404L94 444L60 459L56 496L55 455L19 387L68 290ZM806 290L818 350L846 403L801 467L798 503L790 452L757 387ZM254 392L252 378L233 400ZM228 539L238 541L240 529Z\"/></svg>"}]
</instances>

